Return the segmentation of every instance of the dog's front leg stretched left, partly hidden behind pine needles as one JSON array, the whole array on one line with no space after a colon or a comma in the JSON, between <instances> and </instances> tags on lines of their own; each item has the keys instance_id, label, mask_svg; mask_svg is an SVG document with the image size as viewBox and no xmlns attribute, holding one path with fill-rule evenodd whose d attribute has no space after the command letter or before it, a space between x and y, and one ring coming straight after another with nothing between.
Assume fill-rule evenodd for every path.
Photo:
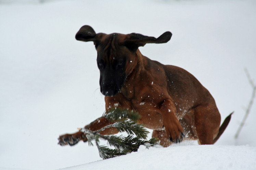
<instances>
[{"instance_id":1,"label":"dog's front leg stretched left, partly hidden behind pine needles","mask_svg":"<svg viewBox=\"0 0 256 170\"><path fill-rule=\"evenodd\" d=\"M113 124L114 122L110 122L104 117L98 118L89 125L86 125L85 128L91 131L99 130L107 125ZM111 134L116 134L118 133L118 130L114 127L107 128L101 132L99 132L101 135L111 135ZM84 132L78 131L74 134L65 134L61 135L59 137L59 143L60 145L75 145L77 144L80 140L86 142L87 137Z\"/></svg>"}]
</instances>

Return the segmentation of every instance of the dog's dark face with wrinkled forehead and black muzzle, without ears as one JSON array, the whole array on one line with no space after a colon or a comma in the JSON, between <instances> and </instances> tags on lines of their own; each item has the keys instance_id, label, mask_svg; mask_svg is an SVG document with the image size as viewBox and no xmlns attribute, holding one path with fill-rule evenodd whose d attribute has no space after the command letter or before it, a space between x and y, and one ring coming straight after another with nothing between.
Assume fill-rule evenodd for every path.
<instances>
[{"instance_id":1,"label":"dog's dark face with wrinkled forehead and black muzzle, without ears","mask_svg":"<svg viewBox=\"0 0 256 170\"><path fill-rule=\"evenodd\" d=\"M129 74L135 52L121 45L125 35L113 33L102 35L101 42L95 44L97 64L100 70L100 91L105 96L114 96L122 88Z\"/></svg>"}]
</instances>

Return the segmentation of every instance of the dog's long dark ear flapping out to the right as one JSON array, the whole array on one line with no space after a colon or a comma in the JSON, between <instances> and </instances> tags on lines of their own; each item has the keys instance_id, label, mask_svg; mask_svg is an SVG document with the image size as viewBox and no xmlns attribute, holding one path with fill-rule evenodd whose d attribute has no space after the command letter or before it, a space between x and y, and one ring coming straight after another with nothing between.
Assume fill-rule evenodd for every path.
<instances>
[{"instance_id":1,"label":"dog's long dark ear flapping out to the right","mask_svg":"<svg viewBox=\"0 0 256 170\"><path fill-rule=\"evenodd\" d=\"M147 43L167 43L171 39L171 32L167 31L160 35L158 38L152 36L145 36L142 34L131 33L127 34L127 40L125 40L124 45L131 50L137 50L139 47L144 46Z\"/></svg>"}]
</instances>

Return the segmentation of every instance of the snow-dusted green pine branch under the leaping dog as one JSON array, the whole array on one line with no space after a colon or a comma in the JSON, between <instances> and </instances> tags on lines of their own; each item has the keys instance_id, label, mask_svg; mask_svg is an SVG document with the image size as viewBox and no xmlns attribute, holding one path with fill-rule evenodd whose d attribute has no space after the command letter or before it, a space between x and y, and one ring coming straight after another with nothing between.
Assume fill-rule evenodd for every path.
<instances>
[{"instance_id":1,"label":"snow-dusted green pine branch under the leaping dog","mask_svg":"<svg viewBox=\"0 0 256 170\"><path fill-rule=\"evenodd\" d=\"M89 145L93 145L93 141L95 141L100 157L103 159L136 152L140 145L145 145L146 148L149 148L150 146L159 144L159 139L157 138L151 138L148 141L143 140L146 139L149 132L141 124L136 123L140 118L140 115L137 112L117 108L110 110L107 114L103 115L103 117L106 117L110 121L115 121L115 123L96 131L87 128L81 130L86 134ZM105 136L100 134L101 131L109 127L115 127L119 132L126 132L128 136ZM100 139L107 140L108 145L113 146L114 149L100 145Z\"/></svg>"}]
</instances>

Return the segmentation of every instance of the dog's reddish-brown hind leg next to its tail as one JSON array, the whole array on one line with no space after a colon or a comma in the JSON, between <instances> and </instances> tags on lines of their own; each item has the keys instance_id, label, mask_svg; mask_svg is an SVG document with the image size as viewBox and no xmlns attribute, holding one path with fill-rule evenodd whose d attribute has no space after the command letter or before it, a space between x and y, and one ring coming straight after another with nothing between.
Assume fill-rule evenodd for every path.
<instances>
[{"instance_id":1,"label":"dog's reddish-brown hind leg next to its tail","mask_svg":"<svg viewBox=\"0 0 256 170\"><path fill-rule=\"evenodd\" d=\"M220 113L215 102L195 108L195 129L199 144L213 144L220 126Z\"/></svg>"}]
</instances>

